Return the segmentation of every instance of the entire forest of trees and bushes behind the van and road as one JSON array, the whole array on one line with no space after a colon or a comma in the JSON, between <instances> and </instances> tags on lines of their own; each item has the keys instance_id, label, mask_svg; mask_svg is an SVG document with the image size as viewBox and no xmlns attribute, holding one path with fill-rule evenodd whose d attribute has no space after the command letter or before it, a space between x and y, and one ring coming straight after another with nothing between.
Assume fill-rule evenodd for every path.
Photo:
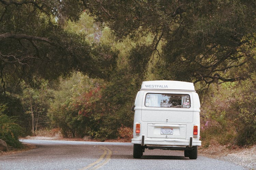
<instances>
[{"instance_id":1,"label":"entire forest of trees and bushes behind the van and road","mask_svg":"<svg viewBox=\"0 0 256 170\"><path fill-rule=\"evenodd\" d=\"M0 0L0 138L131 138L142 81L193 82L203 145L256 141L253 0Z\"/></svg>"}]
</instances>

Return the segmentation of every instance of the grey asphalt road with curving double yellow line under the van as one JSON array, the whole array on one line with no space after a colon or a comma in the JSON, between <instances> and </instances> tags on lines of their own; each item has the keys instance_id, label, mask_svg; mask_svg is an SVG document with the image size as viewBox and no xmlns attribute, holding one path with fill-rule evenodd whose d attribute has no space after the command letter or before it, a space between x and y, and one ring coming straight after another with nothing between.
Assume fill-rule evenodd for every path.
<instances>
[{"instance_id":1,"label":"grey asphalt road with curving double yellow line under the van","mask_svg":"<svg viewBox=\"0 0 256 170\"><path fill-rule=\"evenodd\" d=\"M184 151L145 150L133 159L131 143L59 140L22 140L36 149L0 157L0 169L243 169L233 163L198 156L184 157Z\"/></svg>"}]
</instances>

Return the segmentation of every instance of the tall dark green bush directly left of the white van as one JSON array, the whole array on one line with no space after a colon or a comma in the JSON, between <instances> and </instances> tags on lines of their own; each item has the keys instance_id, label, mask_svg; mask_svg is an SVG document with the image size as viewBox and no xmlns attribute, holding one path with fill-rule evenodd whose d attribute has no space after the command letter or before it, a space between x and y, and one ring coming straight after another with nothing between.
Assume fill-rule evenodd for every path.
<instances>
[{"instance_id":1,"label":"tall dark green bush directly left of the white van","mask_svg":"<svg viewBox=\"0 0 256 170\"><path fill-rule=\"evenodd\" d=\"M141 84L140 77L131 75L128 70L118 70L112 80L106 83L102 91L104 117L100 135L104 138L116 138L117 129L131 127L133 114L130 111L134 98Z\"/></svg>"}]
</instances>

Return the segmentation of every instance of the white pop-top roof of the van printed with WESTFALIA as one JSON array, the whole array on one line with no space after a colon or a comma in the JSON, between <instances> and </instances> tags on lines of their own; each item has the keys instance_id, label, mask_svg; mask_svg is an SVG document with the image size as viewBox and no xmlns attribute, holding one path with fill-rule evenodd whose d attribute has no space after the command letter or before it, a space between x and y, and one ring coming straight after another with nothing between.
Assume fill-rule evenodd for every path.
<instances>
[{"instance_id":1,"label":"white pop-top roof of the van printed with WESTFALIA","mask_svg":"<svg viewBox=\"0 0 256 170\"><path fill-rule=\"evenodd\" d=\"M163 90L193 90L195 87L193 83L170 81L170 80L157 80L157 81L144 81L142 82L141 89L163 89Z\"/></svg>"}]
</instances>

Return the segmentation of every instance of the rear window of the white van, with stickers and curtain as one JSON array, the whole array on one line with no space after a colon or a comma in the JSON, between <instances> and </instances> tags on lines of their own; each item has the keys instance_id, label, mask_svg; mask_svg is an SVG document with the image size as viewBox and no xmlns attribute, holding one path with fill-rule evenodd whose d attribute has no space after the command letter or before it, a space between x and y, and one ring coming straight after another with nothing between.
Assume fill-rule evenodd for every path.
<instances>
[{"instance_id":1,"label":"rear window of the white van, with stickers and curtain","mask_svg":"<svg viewBox=\"0 0 256 170\"><path fill-rule=\"evenodd\" d=\"M190 97L186 94L156 94L148 93L145 99L146 107L190 108Z\"/></svg>"}]
</instances>

